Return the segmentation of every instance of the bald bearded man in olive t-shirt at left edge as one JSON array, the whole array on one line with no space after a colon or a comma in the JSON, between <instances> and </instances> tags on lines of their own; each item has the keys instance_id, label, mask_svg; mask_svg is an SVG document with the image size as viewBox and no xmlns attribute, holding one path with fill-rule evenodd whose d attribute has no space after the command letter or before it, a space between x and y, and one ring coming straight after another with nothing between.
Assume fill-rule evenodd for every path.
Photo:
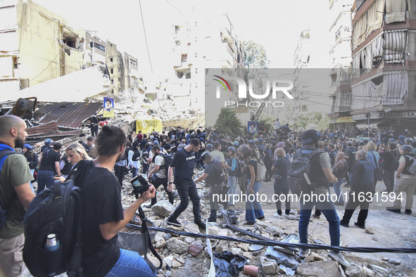
<instances>
[{"instance_id":1,"label":"bald bearded man in olive t-shirt at left edge","mask_svg":"<svg viewBox=\"0 0 416 277\"><path fill-rule=\"evenodd\" d=\"M26 129L20 117L0 117L0 272L4 276L21 276L25 270L23 216L34 198L29 183L33 175L25 157L14 148L23 148Z\"/></svg>"}]
</instances>

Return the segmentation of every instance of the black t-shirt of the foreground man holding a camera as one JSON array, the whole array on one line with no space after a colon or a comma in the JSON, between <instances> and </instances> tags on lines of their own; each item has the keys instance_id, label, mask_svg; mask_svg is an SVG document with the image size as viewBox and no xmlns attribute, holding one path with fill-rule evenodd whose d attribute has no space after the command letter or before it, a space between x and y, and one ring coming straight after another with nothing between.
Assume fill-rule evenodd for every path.
<instances>
[{"instance_id":1,"label":"black t-shirt of the foreground man holding a camera","mask_svg":"<svg viewBox=\"0 0 416 277\"><path fill-rule=\"evenodd\" d=\"M92 165L82 183L84 276L106 276L120 257L118 235L101 236L100 224L124 219L118 179L108 169Z\"/></svg>"}]
</instances>

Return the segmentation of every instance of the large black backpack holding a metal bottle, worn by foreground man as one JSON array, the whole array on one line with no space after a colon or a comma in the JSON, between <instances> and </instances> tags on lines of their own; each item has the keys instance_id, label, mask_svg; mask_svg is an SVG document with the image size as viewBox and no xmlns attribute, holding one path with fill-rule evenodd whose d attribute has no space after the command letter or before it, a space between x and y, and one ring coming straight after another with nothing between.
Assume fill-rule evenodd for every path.
<instances>
[{"instance_id":1,"label":"large black backpack holding a metal bottle, worn by foreground man","mask_svg":"<svg viewBox=\"0 0 416 277\"><path fill-rule=\"evenodd\" d=\"M82 162L70 179L46 188L30 202L23 219L25 246L23 259L33 276L53 276L68 272L82 276L81 191L91 161ZM46 238L55 234L59 247L46 250Z\"/></svg>"}]
</instances>

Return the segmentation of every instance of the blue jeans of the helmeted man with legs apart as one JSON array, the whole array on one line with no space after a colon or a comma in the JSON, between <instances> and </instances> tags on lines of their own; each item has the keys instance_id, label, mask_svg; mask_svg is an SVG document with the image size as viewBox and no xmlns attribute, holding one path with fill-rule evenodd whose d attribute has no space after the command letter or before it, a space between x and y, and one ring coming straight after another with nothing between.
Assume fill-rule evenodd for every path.
<instances>
[{"instance_id":1,"label":"blue jeans of the helmeted man with legs apart","mask_svg":"<svg viewBox=\"0 0 416 277\"><path fill-rule=\"evenodd\" d=\"M316 194L326 193L324 188L317 188L317 191L314 191ZM327 190L326 190L327 191ZM329 223L329 237L331 238L332 246L339 246L339 237L341 236L339 232L339 217L336 214L334 203L329 200L326 202L305 202L301 203L301 217L299 219L299 239L300 243L308 243L308 225L310 220L310 214L312 208L315 205L316 209L319 209L322 214L327 218ZM304 249L305 250L305 249ZM338 251L335 251L338 252Z\"/></svg>"}]
</instances>

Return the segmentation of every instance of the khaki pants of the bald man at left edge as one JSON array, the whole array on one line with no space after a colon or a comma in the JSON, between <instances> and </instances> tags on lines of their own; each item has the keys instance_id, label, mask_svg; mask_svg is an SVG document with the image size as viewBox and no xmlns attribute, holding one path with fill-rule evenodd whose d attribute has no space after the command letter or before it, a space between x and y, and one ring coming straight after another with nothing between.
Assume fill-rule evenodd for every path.
<instances>
[{"instance_id":1,"label":"khaki pants of the bald man at left edge","mask_svg":"<svg viewBox=\"0 0 416 277\"><path fill-rule=\"evenodd\" d=\"M0 276L22 276L26 268L22 254L24 243L25 234L0 239Z\"/></svg>"}]
</instances>

